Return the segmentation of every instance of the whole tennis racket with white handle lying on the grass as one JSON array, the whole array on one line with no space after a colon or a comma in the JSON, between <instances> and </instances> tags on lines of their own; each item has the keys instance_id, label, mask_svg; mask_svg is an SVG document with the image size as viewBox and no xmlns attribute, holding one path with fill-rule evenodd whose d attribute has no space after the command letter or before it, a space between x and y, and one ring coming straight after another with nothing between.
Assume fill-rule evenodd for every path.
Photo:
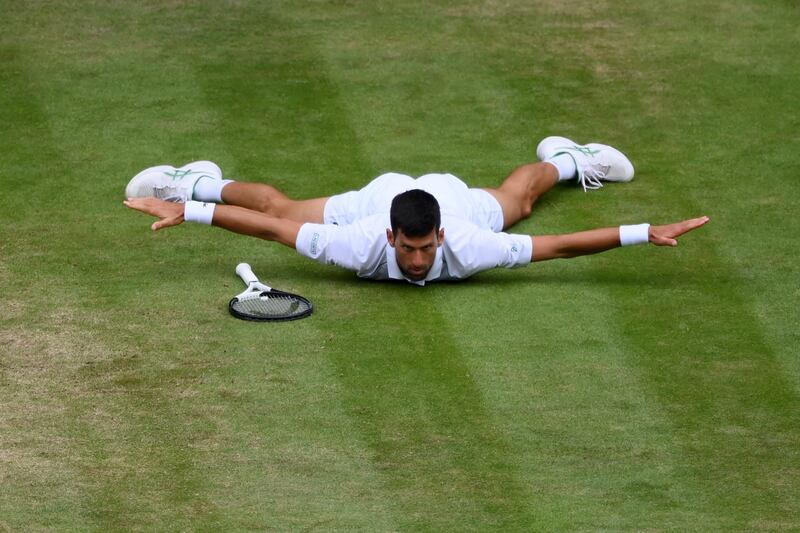
<instances>
[{"instance_id":1,"label":"whole tennis racket with white handle lying on the grass","mask_svg":"<svg viewBox=\"0 0 800 533\"><path fill-rule=\"evenodd\" d=\"M261 283L247 263L236 265L236 273L247 284L247 289L228 304L228 310L236 318L259 322L296 320L309 316L314 310L311 302L302 296Z\"/></svg>"}]
</instances>

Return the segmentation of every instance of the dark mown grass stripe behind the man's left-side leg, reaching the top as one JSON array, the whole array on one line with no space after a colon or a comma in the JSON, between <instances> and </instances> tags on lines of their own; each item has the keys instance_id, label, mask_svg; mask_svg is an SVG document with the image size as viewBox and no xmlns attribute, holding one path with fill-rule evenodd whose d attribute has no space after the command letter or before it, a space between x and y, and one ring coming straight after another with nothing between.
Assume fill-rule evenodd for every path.
<instances>
[{"instance_id":1,"label":"dark mown grass stripe behind the man's left-side leg, reaching the top","mask_svg":"<svg viewBox=\"0 0 800 533\"><path fill-rule=\"evenodd\" d=\"M270 183L299 199L359 187L372 171L339 105L347 96L311 51L314 34L275 11L253 5L211 10L213 31L231 37L182 50L219 117L209 133L232 156L235 179ZM191 26L190 41L211 31L203 21Z\"/></svg>"}]
</instances>

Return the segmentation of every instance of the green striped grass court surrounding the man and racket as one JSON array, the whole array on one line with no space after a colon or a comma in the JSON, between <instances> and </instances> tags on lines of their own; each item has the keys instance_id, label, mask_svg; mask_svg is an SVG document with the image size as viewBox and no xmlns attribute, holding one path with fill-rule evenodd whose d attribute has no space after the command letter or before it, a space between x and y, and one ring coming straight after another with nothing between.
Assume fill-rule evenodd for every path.
<instances>
[{"instance_id":1,"label":"green striped grass court surrounding the man and racket","mask_svg":"<svg viewBox=\"0 0 800 533\"><path fill-rule=\"evenodd\" d=\"M0 12L0 530L800 529L796 2ZM514 231L711 224L418 289L121 204L200 158L491 186L550 134L637 178ZM239 261L313 317L230 318Z\"/></svg>"}]
</instances>

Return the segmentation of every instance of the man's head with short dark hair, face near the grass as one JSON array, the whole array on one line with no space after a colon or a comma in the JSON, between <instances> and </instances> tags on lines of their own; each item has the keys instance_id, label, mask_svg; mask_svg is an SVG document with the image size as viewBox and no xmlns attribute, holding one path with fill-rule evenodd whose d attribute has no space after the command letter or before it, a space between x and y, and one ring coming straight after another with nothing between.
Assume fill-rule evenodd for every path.
<instances>
[{"instance_id":1,"label":"man's head with short dark hair, face near the grass","mask_svg":"<svg viewBox=\"0 0 800 533\"><path fill-rule=\"evenodd\" d=\"M439 202L430 193L412 189L394 197L389 217L392 229L386 230L386 238L395 249L397 265L408 279L425 279L444 241Z\"/></svg>"}]
</instances>

